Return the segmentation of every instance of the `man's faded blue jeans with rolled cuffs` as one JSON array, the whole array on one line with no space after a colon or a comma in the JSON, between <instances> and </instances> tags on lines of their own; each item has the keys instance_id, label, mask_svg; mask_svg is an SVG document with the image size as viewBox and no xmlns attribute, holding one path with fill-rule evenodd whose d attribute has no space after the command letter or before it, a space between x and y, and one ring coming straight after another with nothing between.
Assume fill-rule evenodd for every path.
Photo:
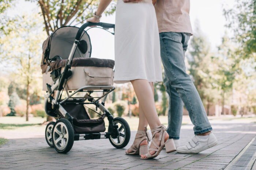
<instances>
[{"instance_id":1,"label":"man's faded blue jeans with rolled cuffs","mask_svg":"<svg viewBox=\"0 0 256 170\"><path fill-rule=\"evenodd\" d=\"M165 70L163 82L169 95L168 127L169 138L179 139L182 124L183 102L194 124L194 133L212 130L202 100L186 73L185 51L190 33L161 32L161 59Z\"/></svg>"}]
</instances>

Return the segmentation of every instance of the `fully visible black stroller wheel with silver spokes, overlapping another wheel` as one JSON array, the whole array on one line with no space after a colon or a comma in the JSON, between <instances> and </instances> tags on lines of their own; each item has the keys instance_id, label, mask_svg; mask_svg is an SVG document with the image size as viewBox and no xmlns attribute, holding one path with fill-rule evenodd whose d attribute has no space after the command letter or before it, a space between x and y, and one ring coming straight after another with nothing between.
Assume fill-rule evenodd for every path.
<instances>
[{"instance_id":1,"label":"fully visible black stroller wheel with silver spokes, overlapping another wheel","mask_svg":"<svg viewBox=\"0 0 256 170\"><path fill-rule=\"evenodd\" d=\"M53 126L52 141L55 150L59 153L67 153L74 143L74 130L67 119L59 119Z\"/></svg>"}]
</instances>

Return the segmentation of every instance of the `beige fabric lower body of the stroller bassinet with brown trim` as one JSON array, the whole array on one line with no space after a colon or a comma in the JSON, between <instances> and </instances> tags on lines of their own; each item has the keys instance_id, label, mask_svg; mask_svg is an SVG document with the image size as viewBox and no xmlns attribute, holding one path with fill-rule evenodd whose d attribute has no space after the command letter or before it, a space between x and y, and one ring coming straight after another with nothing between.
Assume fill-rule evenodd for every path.
<instances>
[{"instance_id":1,"label":"beige fabric lower body of the stroller bassinet with brown trim","mask_svg":"<svg viewBox=\"0 0 256 170\"><path fill-rule=\"evenodd\" d=\"M51 70L64 70L67 60L57 60L50 63ZM46 73L47 64L41 66L43 73L43 90L47 91L46 83L54 83L50 72ZM72 75L67 80L68 90L77 90L83 86L112 86L114 77L114 60L97 58L74 58L72 61Z\"/></svg>"}]
</instances>

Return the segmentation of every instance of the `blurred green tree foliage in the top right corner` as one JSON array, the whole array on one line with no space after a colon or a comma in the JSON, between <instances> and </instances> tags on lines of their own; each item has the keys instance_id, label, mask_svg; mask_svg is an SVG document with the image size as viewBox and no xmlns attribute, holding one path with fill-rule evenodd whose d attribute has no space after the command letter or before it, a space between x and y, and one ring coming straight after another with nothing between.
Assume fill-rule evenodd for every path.
<instances>
[{"instance_id":1,"label":"blurred green tree foliage in the top right corner","mask_svg":"<svg viewBox=\"0 0 256 170\"><path fill-rule=\"evenodd\" d=\"M226 27L233 33L233 40L239 43L236 54L243 58L256 59L256 1L236 0L235 7L224 9Z\"/></svg>"}]
</instances>

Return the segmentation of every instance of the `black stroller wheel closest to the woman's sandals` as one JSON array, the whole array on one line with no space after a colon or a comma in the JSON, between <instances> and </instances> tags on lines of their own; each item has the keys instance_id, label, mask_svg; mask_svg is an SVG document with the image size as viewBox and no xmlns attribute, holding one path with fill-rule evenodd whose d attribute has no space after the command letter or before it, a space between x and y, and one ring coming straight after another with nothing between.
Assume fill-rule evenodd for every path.
<instances>
[{"instance_id":1,"label":"black stroller wheel closest to the woman's sandals","mask_svg":"<svg viewBox=\"0 0 256 170\"><path fill-rule=\"evenodd\" d=\"M130 141L131 130L129 124L126 122L126 120L120 117L114 118L113 124L118 125L118 135L117 138L110 137L109 141L114 147L118 149L123 148Z\"/></svg>"}]
</instances>

